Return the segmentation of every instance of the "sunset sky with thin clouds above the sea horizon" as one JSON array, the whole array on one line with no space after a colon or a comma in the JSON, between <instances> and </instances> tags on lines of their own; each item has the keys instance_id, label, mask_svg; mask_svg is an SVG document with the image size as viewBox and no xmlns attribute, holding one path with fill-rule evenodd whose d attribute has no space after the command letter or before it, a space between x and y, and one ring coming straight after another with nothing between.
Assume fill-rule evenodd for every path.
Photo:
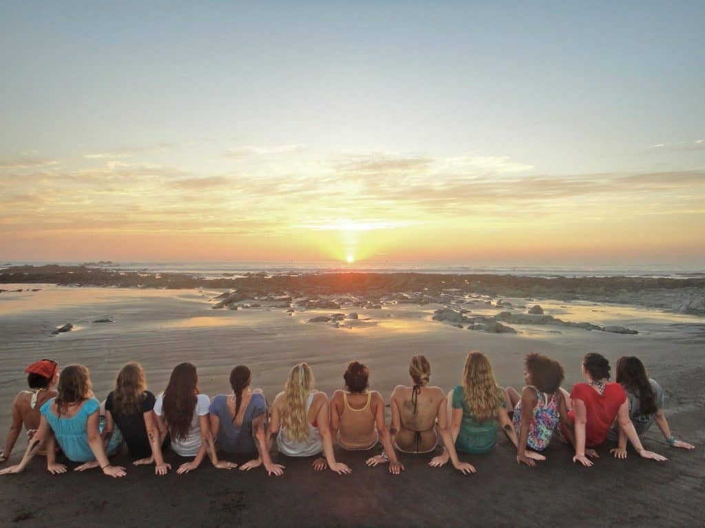
<instances>
[{"instance_id":1,"label":"sunset sky with thin clouds above the sea horizon","mask_svg":"<svg viewBox=\"0 0 705 528\"><path fill-rule=\"evenodd\" d=\"M2 2L0 260L703 269L702 20Z\"/></svg>"}]
</instances>

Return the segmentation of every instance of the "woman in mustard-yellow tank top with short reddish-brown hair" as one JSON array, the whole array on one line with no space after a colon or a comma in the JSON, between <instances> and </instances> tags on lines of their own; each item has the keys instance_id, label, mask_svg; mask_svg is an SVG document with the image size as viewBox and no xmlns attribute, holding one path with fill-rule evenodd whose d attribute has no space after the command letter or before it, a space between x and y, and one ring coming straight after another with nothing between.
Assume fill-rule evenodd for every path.
<instances>
[{"instance_id":1,"label":"woman in mustard-yellow tank top with short reddish-brown hair","mask_svg":"<svg viewBox=\"0 0 705 528\"><path fill-rule=\"evenodd\" d=\"M350 361L343 374L344 391L331 396L331 430L343 449L367 450L381 441L385 455L367 460L374 466L389 462L389 472L399 474L404 466L399 463L384 422L384 400L377 391L368 391L369 370L359 361Z\"/></svg>"}]
</instances>

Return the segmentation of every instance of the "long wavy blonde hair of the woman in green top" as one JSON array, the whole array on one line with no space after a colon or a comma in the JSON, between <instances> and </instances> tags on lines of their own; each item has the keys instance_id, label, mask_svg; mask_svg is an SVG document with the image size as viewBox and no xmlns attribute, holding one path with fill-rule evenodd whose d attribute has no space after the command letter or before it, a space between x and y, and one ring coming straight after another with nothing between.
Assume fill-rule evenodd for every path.
<instances>
[{"instance_id":1,"label":"long wavy blonde hair of the woman in green top","mask_svg":"<svg viewBox=\"0 0 705 528\"><path fill-rule=\"evenodd\" d=\"M475 420L484 422L496 417L501 396L492 365L482 352L471 351L467 354L462 389Z\"/></svg>"}]
</instances>

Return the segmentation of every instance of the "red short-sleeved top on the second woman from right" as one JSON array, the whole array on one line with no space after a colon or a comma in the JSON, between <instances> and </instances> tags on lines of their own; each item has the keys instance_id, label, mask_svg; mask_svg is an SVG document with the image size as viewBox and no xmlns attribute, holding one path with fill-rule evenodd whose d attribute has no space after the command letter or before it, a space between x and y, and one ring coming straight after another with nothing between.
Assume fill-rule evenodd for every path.
<instances>
[{"instance_id":1,"label":"red short-sleeved top on the second woman from right","mask_svg":"<svg viewBox=\"0 0 705 528\"><path fill-rule=\"evenodd\" d=\"M627 393L618 383L605 384L603 394L587 383L576 383L570 392L570 398L585 403L587 410L585 446L592 447L599 446L607 438L620 406L627 399ZM575 420L575 411L572 409L568 411L568 416L571 420Z\"/></svg>"}]
</instances>

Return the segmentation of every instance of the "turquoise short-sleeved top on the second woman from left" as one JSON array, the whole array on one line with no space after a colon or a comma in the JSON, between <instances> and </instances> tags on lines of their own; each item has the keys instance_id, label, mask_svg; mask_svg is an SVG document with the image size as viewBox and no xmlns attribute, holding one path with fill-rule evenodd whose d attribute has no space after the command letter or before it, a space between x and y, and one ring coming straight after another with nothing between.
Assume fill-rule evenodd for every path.
<instances>
[{"instance_id":1,"label":"turquoise short-sleeved top on the second woman from left","mask_svg":"<svg viewBox=\"0 0 705 528\"><path fill-rule=\"evenodd\" d=\"M72 417L59 417L51 412L51 406L54 405L54 400L44 403L39 410L42 416L47 418L49 427L54 431L56 442L61 447L61 451L66 455L68 460L72 462L91 462L95 460L95 455L88 445L88 434L86 433L86 423L88 417L100 409L100 402L96 398L90 398L83 402L83 405L78 410L78 413ZM101 420L100 430L102 431L104 422ZM107 452L115 451L122 441L120 434L113 434L110 439Z\"/></svg>"}]
</instances>

